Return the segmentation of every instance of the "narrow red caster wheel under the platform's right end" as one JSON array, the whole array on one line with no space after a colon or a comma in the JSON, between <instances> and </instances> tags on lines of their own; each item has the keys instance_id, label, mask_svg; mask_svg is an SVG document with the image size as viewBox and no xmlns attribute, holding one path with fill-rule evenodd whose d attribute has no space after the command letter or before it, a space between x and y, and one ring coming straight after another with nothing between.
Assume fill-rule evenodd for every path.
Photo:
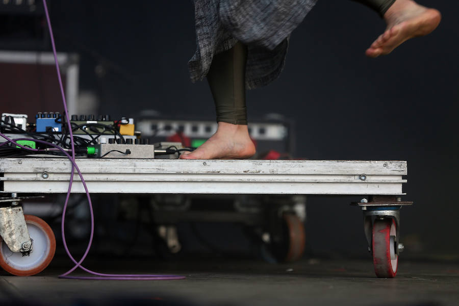
<instances>
[{"instance_id":1,"label":"narrow red caster wheel under the platform's right end","mask_svg":"<svg viewBox=\"0 0 459 306\"><path fill-rule=\"evenodd\" d=\"M372 253L378 277L395 277L398 269L397 232L393 219L376 219L373 223Z\"/></svg>"}]
</instances>

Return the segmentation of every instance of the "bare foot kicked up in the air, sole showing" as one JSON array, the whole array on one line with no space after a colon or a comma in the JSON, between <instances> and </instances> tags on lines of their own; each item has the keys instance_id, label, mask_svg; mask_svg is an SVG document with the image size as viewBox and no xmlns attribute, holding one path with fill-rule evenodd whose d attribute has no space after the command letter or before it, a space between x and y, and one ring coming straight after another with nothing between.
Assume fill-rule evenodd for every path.
<instances>
[{"instance_id":1,"label":"bare foot kicked up in the air, sole showing","mask_svg":"<svg viewBox=\"0 0 459 306\"><path fill-rule=\"evenodd\" d=\"M387 55L404 41L435 30L441 20L436 9L423 7L412 0L396 0L384 14L387 29L366 50L368 57Z\"/></svg>"}]
</instances>

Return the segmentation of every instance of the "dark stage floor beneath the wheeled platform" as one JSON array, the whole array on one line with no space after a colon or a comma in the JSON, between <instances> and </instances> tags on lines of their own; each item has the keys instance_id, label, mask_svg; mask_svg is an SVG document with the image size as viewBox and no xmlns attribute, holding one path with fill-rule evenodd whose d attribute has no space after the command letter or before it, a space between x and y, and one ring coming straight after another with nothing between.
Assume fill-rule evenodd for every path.
<instances>
[{"instance_id":1,"label":"dark stage floor beneath the wheeled platform","mask_svg":"<svg viewBox=\"0 0 459 306\"><path fill-rule=\"evenodd\" d=\"M55 260L56 261L56 260ZM68 261L68 260L67 260ZM180 281L81 281L55 275L57 260L31 277L0 275L3 305L459 305L459 264L401 261L393 279L374 276L370 260L90 259L106 273L180 274ZM82 272L75 274L85 275Z\"/></svg>"}]
</instances>

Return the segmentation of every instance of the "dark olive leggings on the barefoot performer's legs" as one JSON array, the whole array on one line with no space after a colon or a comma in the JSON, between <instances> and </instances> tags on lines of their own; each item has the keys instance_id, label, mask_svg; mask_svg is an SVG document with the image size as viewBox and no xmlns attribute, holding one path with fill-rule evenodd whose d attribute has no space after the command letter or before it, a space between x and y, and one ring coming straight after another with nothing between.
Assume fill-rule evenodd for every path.
<instances>
[{"instance_id":1,"label":"dark olive leggings on the barefoot performer's legs","mask_svg":"<svg viewBox=\"0 0 459 306\"><path fill-rule=\"evenodd\" d=\"M362 3L382 17L395 0L353 0ZM241 42L212 59L207 81L214 97L217 122L247 124L245 106L245 64L247 46Z\"/></svg>"}]
</instances>

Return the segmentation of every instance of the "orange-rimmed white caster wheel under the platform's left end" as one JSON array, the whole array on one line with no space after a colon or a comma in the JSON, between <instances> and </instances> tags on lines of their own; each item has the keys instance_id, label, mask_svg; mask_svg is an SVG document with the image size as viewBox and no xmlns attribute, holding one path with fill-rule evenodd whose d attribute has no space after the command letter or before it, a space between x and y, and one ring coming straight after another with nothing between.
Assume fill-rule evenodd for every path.
<instances>
[{"instance_id":1,"label":"orange-rimmed white caster wheel under the platform's left end","mask_svg":"<svg viewBox=\"0 0 459 306\"><path fill-rule=\"evenodd\" d=\"M30 276L43 271L53 260L56 250L56 238L49 225L36 216L24 215L24 218L33 240L30 255L14 253L3 240L0 242L0 266L17 276Z\"/></svg>"}]
</instances>

